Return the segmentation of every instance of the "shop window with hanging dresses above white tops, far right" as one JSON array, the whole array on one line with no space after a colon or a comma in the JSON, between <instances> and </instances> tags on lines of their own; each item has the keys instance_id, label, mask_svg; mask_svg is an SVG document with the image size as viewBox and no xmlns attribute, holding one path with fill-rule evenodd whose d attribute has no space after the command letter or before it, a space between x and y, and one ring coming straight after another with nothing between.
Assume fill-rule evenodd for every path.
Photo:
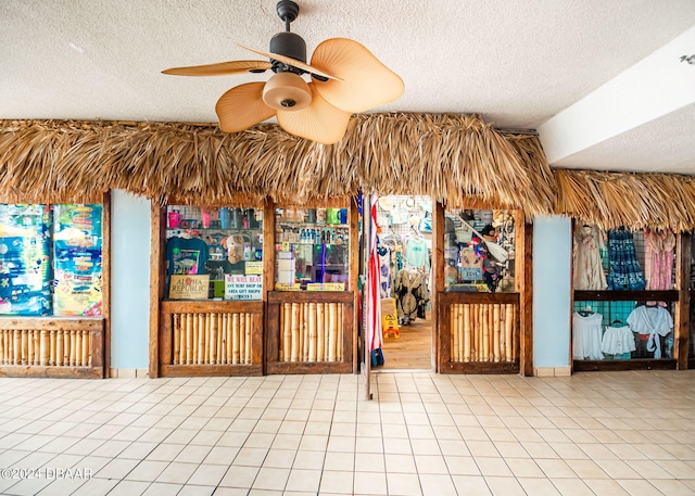
<instances>
[{"instance_id":1,"label":"shop window with hanging dresses above white tops, far right","mask_svg":"<svg viewBox=\"0 0 695 496\"><path fill-rule=\"evenodd\" d=\"M574 360L673 358L677 236L577 225Z\"/></svg>"}]
</instances>

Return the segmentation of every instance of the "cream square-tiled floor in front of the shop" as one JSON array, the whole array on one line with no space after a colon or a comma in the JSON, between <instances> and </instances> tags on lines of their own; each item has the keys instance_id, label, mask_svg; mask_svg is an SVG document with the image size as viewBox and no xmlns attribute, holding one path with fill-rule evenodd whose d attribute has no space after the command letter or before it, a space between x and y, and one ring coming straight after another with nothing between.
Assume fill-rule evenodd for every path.
<instances>
[{"instance_id":1,"label":"cream square-tiled floor in front of the shop","mask_svg":"<svg viewBox=\"0 0 695 496\"><path fill-rule=\"evenodd\" d=\"M695 371L375 382L1 379L0 492L695 494Z\"/></svg>"}]
</instances>

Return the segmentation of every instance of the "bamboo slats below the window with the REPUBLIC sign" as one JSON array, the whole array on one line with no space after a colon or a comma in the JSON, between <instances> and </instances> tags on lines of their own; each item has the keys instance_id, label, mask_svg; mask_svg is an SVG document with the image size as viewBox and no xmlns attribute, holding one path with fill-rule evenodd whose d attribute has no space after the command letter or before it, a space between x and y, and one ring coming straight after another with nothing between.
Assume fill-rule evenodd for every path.
<instances>
[{"instance_id":1,"label":"bamboo slats below the window with the REPUBLIC sign","mask_svg":"<svg viewBox=\"0 0 695 496\"><path fill-rule=\"evenodd\" d=\"M173 365L252 365L253 314L172 314Z\"/></svg>"}]
</instances>

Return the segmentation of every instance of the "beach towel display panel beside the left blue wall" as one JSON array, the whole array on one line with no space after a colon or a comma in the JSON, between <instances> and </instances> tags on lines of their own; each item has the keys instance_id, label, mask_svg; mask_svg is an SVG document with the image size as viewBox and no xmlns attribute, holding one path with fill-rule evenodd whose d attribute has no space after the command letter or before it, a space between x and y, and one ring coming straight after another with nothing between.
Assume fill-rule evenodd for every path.
<instances>
[{"instance_id":1,"label":"beach towel display panel beside the left blue wall","mask_svg":"<svg viewBox=\"0 0 695 496\"><path fill-rule=\"evenodd\" d=\"M53 314L101 315L102 206L53 207Z\"/></svg>"}]
</instances>

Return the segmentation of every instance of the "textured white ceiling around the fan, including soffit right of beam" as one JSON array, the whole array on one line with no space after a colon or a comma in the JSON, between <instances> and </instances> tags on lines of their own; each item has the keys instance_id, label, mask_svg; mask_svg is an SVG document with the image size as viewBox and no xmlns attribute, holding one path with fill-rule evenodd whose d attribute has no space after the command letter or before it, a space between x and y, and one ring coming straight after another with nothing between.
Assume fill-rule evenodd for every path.
<instances>
[{"instance_id":1,"label":"textured white ceiling around the fan, including soffit right of beam","mask_svg":"<svg viewBox=\"0 0 695 496\"><path fill-rule=\"evenodd\" d=\"M258 60L235 43L267 50L270 37L283 30L275 3L2 0L0 118L214 123L215 102L227 89L268 76L160 72ZM401 75L405 94L374 112L476 112L503 128L540 128L695 26L693 0L298 3L292 30L309 53L324 39L348 37ZM695 46L682 54L690 53ZM682 138L695 129L695 105L672 114L557 164L695 174L695 140ZM602 115L592 118L601 122Z\"/></svg>"}]
</instances>

